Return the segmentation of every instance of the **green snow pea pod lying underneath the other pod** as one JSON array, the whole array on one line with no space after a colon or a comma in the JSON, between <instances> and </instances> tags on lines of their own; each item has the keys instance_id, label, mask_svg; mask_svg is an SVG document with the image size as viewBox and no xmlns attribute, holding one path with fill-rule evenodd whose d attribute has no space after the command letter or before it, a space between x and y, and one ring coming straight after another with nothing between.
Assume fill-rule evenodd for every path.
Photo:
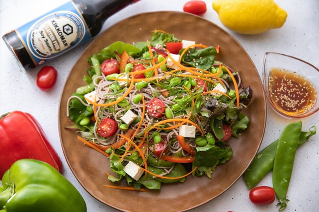
<instances>
[{"instance_id":1,"label":"green snow pea pod lying underneath the other pod","mask_svg":"<svg viewBox=\"0 0 319 212\"><path fill-rule=\"evenodd\" d=\"M298 147L304 144L312 135L316 134L316 127L313 126L308 132L301 132L298 140ZM269 144L260 151L244 173L244 181L248 189L256 186L273 168L273 161L276 155L276 149L279 139Z\"/></svg>"}]
</instances>

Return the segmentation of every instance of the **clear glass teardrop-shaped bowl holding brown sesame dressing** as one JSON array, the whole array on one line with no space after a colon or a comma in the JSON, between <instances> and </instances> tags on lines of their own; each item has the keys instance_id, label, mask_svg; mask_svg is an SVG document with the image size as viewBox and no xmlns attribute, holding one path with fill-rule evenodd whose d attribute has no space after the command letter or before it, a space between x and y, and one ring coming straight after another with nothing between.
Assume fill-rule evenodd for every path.
<instances>
[{"instance_id":1,"label":"clear glass teardrop-shaped bowl holding brown sesame dressing","mask_svg":"<svg viewBox=\"0 0 319 212\"><path fill-rule=\"evenodd\" d=\"M288 118L302 118L319 110L319 69L299 58L266 52L263 87L270 106Z\"/></svg>"}]
</instances>

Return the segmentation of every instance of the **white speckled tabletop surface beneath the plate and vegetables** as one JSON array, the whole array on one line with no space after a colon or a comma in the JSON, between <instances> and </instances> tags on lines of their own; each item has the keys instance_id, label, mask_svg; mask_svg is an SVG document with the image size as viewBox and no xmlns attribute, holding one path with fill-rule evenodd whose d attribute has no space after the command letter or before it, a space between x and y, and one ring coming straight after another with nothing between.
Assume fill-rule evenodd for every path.
<instances>
[{"instance_id":1,"label":"white speckled tabletop surface beneath the plate and vegetables","mask_svg":"<svg viewBox=\"0 0 319 212\"><path fill-rule=\"evenodd\" d=\"M187 0L141 0L110 17L103 29L133 14L174 10L182 11ZM291 54L300 57L319 67L319 1L318 0L276 0L288 12L285 25L259 35L240 35L222 26L217 14L213 11L212 0L205 0L208 11L203 18L212 21L232 34L255 63L258 72L262 73L264 53L267 51ZM39 15L66 2L66 0L0 0L0 35L25 24ZM50 92L37 88L35 77L40 68L28 73L21 73L11 53L0 41L0 114L13 110L31 113L39 121L53 147L57 150L64 164L64 176L75 185L83 195L88 212L114 212L116 210L95 200L79 184L63 156L58 135L58 105L64 82L69 71L84 50L82 45L64 55L46 63L58 71L57 82ZM302 119L303 130L317 125L319 113ZM273 112L267 105L267 122L261 148L277 139L292 120L285 119ZM253 126L251 126L253 127ZM319 127L319 126L318 126ZM313 136L310 142L298 149L294 161L292 180L288 190L291 200L285 211L311 212L318 211L319 200L319 135ZM225 176L227 178L227 176ZM272 185L271 174L260 185ZM241 177L226 192L211 202L191 210L192 212L275 212L279 208L276 202L269 206L255 206L249 201L248 190ZM154 207L154 206L150 206Z\"/></svg>"}]
</instances>

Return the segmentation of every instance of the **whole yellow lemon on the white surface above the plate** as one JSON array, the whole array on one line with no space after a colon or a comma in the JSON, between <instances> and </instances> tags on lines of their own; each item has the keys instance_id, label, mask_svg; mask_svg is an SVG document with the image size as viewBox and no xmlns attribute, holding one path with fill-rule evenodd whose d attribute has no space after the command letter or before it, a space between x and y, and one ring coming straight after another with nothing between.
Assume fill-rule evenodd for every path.
<instances>
[{"instance_id":1,"label":"whole yellow lemon on the white surface above the plate","mask_svg":"<svg viewBox=\"0 0 319 212\"><path fill-rule=\"evenodd\" d=\"M213 0L221 23L240 34L258 34L282 27L287 12L273 0Z\"/></svg>"}]
</instances>

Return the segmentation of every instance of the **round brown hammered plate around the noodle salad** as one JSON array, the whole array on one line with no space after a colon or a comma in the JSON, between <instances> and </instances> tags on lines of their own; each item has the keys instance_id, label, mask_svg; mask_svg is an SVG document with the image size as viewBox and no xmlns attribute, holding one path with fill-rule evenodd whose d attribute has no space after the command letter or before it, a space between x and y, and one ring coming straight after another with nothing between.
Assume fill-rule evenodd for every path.
<instances>
[{"instance_id":1,"label":"round brown hammered plate around the noodle salad","mask_svg":"<svg viewBox=\"0 0 319 212\"><path fill-rule=\"evenodd\" d=\"M220 46L216 60L223 61L241 73L242 81L254 92L252 102L244 113L250 119L249 128L239 139L231 139L232 158L219 165L212 179L186 177L184 183L162 185L160 191L135 192L103 187L111 185L105 171L111 172L108 159L84 146L74 130L64 127L73 123L66 117L67 99L84 82L82 77L90 68L87 57L98 53L115 41L133 43L151 38L151 31L161 29L185 40ZM124 32L124 33L123 33ZM80 184L99 201L121 211L176 212L198 207L227 190L248 167L258 152L266 124L266 102L259 74L248 54L226 31L199 16L182 12L150 12L138 14L109 27L97 37L80 56L71 70L59 108L59 130L66 160ZM218 183L216 183L218 182Z\"/></svg>"}]
</instances>

